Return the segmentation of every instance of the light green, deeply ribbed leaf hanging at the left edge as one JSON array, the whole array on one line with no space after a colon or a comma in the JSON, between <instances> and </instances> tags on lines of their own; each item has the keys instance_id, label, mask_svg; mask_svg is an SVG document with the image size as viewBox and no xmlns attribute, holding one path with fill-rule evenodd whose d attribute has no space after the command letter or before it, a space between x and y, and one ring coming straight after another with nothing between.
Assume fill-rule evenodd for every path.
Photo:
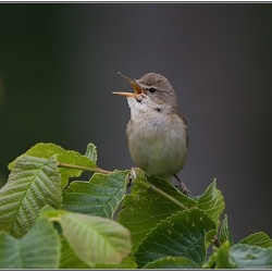
<instances>
[{"instance_id":1,"label":"light green, deeply ribbed leaf hanging at the left edge","mask_svg":"<svg viewBox=\"0 0 272 272\"><path fill-rule=\"evenodd\" d=\"M60 175L55 158L22 156L0 190L0 230L22 237L45 205L60 208Z\"/></svg>"}]
</instances>

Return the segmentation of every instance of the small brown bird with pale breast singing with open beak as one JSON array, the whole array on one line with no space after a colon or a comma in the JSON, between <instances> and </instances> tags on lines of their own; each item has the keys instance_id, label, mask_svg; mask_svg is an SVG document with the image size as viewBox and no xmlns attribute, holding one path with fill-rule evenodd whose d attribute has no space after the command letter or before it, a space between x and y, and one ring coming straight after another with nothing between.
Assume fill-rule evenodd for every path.
<instances>
[{"instance_id":1,"label":"small brown bird with pale breast singing with open beak","mask_svg":"<svg viewBox=\"0 0 272 272\"><path fill-rule=\"evenodd\" d=\"M134 92L113 91L125 96L131 109L126 140L132 160L147 175L169 182L176 177L182 193L190 195L177 177L187 158L188 126L172 85L157 73L147 73L139 79L119 74L134 89Z\"/></svg>"}]
</instances>

